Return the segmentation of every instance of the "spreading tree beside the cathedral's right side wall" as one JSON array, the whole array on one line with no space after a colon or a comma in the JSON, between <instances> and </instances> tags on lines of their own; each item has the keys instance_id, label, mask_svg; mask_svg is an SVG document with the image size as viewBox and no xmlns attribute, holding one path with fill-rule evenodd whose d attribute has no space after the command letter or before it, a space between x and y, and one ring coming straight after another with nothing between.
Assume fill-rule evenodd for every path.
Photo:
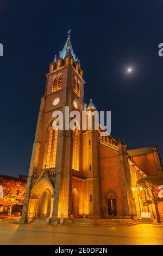
<instances>
[{"instance_id":1,"label":"spreading tree beside the cathedral's right side wall","mask_svg":"<svg viewBox=\"0 0 163 256\"><path fill-rule=\"evenodd\" d=\"M162 190L159 188L159 186L163 185L163 178L154 175L146 176L145 178L138 180L137 184L140 184L146 190L149 198L151 199L151 203L155 205L157 222L161 223L158 204L160 201L163 201L162 197L159 196L159 192Z\"/></svg>"}]
</instances>

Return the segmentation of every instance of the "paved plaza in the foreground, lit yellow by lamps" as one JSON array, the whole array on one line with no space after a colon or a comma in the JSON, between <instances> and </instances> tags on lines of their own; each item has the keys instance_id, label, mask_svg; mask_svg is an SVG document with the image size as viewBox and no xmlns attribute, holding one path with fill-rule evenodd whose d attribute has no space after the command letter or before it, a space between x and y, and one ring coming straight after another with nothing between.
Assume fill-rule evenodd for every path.
<instances>
[{"instance_id":1,"label":"paved plaza in the foreground, lit yellow by lamps","mask_svg":"<svg viewBox=\"0 0 163 256\"><path fill-rule=\"evenodd\" d=\"M0 245L163 245L163 225L66 227L1 223Z\"/></svg>"}]
</instances>

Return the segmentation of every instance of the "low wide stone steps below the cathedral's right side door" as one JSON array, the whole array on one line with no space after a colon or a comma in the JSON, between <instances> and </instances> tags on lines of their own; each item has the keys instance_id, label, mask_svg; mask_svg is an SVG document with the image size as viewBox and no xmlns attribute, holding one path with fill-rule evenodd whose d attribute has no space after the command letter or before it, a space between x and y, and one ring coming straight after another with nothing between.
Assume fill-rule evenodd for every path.
<instances>
[{"instance_id":1,"label":"low wide stone steps below the cathedral's right side door","mask_svg":"<svg viewBox=\"0 0 163 256\"><path fill-rule=\"evenodd\" d=\"M133 226L140 224L133 219L66 219L67 226L90 226L90 227L112 227L112 226Z\"/></svg>"}]
</instances>

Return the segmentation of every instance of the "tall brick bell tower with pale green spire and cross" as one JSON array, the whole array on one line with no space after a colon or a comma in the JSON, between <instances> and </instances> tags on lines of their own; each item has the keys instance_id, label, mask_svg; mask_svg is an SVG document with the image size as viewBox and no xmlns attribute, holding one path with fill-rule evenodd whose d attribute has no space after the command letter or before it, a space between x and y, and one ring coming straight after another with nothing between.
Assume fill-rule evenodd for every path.
<instances>
[{"instance_id":1,"label":"tall brick bell tower with pale green spire and cross","mask_svg":"<svg viewBox=\"0 0 163 256\"><path fill-rule=\"evenodd\" d=\"M69 113L73 110L82 113L85 108L83 70L73 52L70 33L59 56L55 55L53 62L49 64L46 78L46 90L41 99L29 168L22 223L33 221L36 217L46 217L51 219L52 224L57 224L58 218L68 218L72 214L72 168L76 171L81 169L80 134L70 129L52 128L54 110L60 110L64 116L65 106L69 107ZM46 206L43 201L46 201Z\"/></svg>"}]
</instances>

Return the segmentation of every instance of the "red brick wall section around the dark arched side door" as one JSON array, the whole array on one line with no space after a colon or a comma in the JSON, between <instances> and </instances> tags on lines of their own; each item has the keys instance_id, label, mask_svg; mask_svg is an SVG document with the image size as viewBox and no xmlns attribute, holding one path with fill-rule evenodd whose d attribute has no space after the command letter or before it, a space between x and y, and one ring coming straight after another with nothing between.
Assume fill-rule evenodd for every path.
<instances>
[{"instance_id":1,"label":"red brick wall section around the dark arched side door","mask_svg":"<svg viewBox=\"0 0 163 256\"><path fill-rule=\"evenodd\" d=\"M112 189L117 193L117 211L118 215L124 216L124 201L122 194L122 180L120 170L119 153L111 148L99 145L101 179L102 179L102 207L105 206L104 195Z\"/></svg>"}]
</instances>

